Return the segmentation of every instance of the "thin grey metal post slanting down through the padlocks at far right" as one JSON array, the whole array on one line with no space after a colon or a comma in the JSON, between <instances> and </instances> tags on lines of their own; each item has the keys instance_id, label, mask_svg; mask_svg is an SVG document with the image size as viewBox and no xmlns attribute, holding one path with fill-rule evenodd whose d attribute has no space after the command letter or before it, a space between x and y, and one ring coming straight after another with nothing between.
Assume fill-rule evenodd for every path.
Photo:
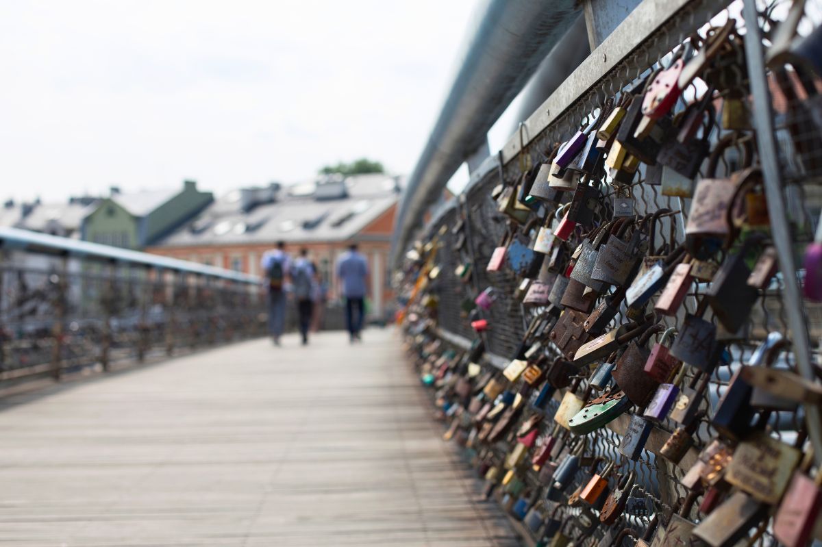
<instances>
[{"instance_id":1,"label":"thin grey metal post slanting down through the padlocks at far right","mask_svg":"<svg viewBox=\"0 0 822 547\"><path fill-rule=\"evenodd\" d=\"M797 283L797 269L793 262L793 242L790 226L785 214L785 200L782 194L782 181L779 173L774 123L771 112L771 96L765 77L764 49L759 26L759 12L755 0L745 0L743 7L745 17L745 55L750 75L750 93L754 101L754 122L756 143L760 150L760 163L764 178L765 197L768 200L771 231L774 246L783 273L783 302L787 315L787 324L791 329L793 352L797 358L797 370L806 379L815 379L813 364L810 362L810 343L808 341L807 323L803 313L804 306ZM815 405L805 406L808 436L814 448L814 459L822 464L822 412Z\"/></svg>"}]
</instances>

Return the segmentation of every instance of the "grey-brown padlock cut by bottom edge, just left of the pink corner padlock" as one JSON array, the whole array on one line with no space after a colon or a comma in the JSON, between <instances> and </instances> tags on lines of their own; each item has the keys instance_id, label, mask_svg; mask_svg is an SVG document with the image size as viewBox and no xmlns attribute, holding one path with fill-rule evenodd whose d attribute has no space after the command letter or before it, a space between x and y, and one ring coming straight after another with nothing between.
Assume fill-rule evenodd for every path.
<instances>
[{"instance_id":1,"label":"grey-brown padlock cut by bottom edge, just left of the pink corner padlock","mask_svg":"<svg viewBox=\"0 0 822 547\"><path fill-rule=\"evenodd\" d=\"M767 506L743 492L734 492L691 532L711 547L736 545L767 513Z\"/></svg>"}]
</instances>

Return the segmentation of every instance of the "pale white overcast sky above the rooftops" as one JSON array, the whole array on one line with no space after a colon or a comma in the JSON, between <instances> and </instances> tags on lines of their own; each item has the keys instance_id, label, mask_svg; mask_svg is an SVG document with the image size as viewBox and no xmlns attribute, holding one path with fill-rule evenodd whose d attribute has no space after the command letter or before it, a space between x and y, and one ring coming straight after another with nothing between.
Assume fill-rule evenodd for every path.
<instances>
[{"instance_id":1,"label":"pale white overcast sky above the rooftops","mask_svg":"<svg viewBox=\"0 0 822 547\"><path fill-rule=\"evenodd\" d=\"M0 199L413 169L472 0L0 0Z\"/></svg>"}]
</instances>

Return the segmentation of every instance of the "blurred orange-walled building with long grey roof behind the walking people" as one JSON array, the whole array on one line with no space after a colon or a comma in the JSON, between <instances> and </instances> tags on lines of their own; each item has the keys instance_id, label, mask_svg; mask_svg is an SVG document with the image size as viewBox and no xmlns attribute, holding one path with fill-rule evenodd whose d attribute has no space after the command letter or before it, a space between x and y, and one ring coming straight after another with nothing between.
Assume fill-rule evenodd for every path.
<instances>
[{"instance_id":1,"label":"blurred orange-walled building with long grey roof behind the walking people","mask_svg":"<svg viewBox=\"0 0 822 547\"><path fill-rule=\"evenodd\" d=\"M399 177L358 175L293 186L242 188L205 207L145 251L259 275L262 254L285 241L307 247L335 299L334 264L352 241L371 269L371 317L390 315L388 257Z\"/></svg>"}]
</instances>

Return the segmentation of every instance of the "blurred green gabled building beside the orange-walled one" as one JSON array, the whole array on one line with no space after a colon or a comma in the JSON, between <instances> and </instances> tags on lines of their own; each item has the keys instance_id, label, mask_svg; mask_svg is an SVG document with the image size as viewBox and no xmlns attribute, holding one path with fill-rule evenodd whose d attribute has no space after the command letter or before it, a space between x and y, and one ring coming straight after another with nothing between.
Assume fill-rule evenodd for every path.
<instances>
[{"instance_id":1,"label":"blurred green gabled building beside the orange-walled one","mask_svg":"<svg viewBox=\"0 0 822 547\"><path fill-rule=\"evenodd\" d=\"M127 249L143 249L167 236L214 201L211 192L197 190L195 181L182 190L121 192L100 200L83 218L82 239Z\"/></svg>"}]
</instances>

